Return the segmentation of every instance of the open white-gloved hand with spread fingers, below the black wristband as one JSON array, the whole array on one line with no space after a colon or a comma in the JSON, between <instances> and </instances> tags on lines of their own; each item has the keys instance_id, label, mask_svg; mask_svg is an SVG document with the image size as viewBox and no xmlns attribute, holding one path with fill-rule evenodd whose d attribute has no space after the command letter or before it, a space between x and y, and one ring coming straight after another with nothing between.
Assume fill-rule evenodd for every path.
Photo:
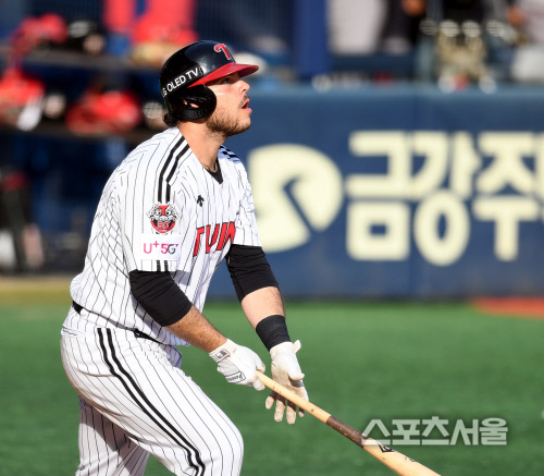
<instances>
[{"instance_id":1,"label":"open white-gloved hand with spread fingers, below the black wristband","mask_svg":"<svg viewBox=\"0 0 544 476\"><path fill-rule=\"evenodd\" d=\"M280 385L284 386L286 389L295 392L298 396L308 400L308 392L306 391L305 385L302 383L304 374L300 370L300 365L296 356L297 351L300 349L300 341L283 342L281 344L274 345L270 350L270 356L272 357L272 378ZM272 392L264 405L267 408L272 408L275 402L274 419L281 422L283 419L283 413L285 411L285 398L279 395L276 392ZM305 411L298 408L298 414L305 416ZM287 402L287 423L293 425L297 417L297 405L292 402Z\"/></svg>"}]
</instances>

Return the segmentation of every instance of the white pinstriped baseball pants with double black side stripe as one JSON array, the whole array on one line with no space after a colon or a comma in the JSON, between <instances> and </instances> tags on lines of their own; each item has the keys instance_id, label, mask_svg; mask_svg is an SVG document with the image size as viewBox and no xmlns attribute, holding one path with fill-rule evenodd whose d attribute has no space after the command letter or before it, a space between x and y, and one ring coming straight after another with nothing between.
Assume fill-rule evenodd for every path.
<instances>
[{"instance_id":1,"label":"white pinstriped baseball pants with double black side stripe","mask_svg":"<svg viewBox=\"0 0 544 476\"><path fill-rule=\"evenodd\" d=\"M61 354L81 402L76 476L140 476L149 454L176 475L239 475L242 436L175 346L95 328L63 333Z\"/></svg>"}]
</instances>

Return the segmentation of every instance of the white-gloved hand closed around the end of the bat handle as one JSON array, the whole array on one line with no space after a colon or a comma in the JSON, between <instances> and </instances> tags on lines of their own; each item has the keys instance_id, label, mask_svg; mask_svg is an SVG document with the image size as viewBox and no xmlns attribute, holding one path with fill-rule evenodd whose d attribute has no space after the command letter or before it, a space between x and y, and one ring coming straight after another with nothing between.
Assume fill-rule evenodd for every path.
<instances>
[{"instance_id":1,"label":"white-gloved hand closed around the end of the bat handle","mask_svg":"<svg viewBox=\"0 0 544 476\"><path fill-rule=\"evenodd\" d=\"M250 349L236 345L227 339L223 345L210 352L210 357L218 363L218 371L225 376L227 382L254 387L256 390L264 389L257 370L264 371L265 366Z\"/></svg>"}]
</instances>

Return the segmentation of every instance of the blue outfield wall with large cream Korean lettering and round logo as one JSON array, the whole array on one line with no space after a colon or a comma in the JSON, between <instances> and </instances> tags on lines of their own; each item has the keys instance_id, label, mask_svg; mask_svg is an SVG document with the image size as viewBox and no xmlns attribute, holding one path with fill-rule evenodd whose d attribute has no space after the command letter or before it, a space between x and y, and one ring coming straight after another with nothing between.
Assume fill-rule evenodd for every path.
<instances>
[{"instance_id":1,"label":"blue outfield wall with large cream Korean lettering and round logo","mask_svg":"<svg viewBox=\"0 0 544 476\"><path fill-rule=\"evenodd\" d=\"M544 91L250 91L246 163L289 297L544 293ZM225 267L210 296L233 296Z\"/></svg>"}]
</instances>

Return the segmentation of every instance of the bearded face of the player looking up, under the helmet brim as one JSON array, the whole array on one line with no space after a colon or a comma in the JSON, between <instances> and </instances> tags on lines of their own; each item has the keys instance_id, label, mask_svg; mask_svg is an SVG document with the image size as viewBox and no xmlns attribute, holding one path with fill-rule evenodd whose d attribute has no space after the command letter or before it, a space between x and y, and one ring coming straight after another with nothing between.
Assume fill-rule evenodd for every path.
<instances>
[{"instance_id":1,"label":"bearded face of the player looking up, under the helmet brim","mask_svg":"<svg viewBox=\"0 0 544 476\"><path fill-rule=\"evenodd\" d=\"M218 105L207 121L212 132L231 136L245 132L251 125L251 109L247 91L249 85L242 81L238 73L221 77L207 86L213 90Z\"/></svg>"}]
</instances>

